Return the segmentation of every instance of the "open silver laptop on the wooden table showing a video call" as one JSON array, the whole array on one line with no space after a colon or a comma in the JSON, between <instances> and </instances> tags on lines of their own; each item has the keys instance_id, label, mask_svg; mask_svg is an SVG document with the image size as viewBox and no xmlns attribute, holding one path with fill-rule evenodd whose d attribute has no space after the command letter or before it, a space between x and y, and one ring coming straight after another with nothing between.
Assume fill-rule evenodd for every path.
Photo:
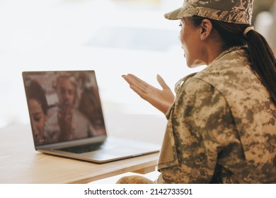
<instances>
[{"instance_id":1,"label":"open silver laptop on the wooden table showing a video call","mask_svg":"<svg viewBox=\"0 0 276 198\"><path fill-rule=\"evenodd\" d=\"M108 136L95 71L23 71L35 150L106 163L160 146Z\"/></svg>"}]
</instances>

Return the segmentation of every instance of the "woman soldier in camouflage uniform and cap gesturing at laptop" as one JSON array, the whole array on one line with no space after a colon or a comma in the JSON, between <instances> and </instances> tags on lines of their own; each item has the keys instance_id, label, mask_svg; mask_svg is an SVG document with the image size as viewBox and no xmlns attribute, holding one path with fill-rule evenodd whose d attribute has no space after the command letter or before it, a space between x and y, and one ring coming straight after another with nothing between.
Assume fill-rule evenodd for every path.
<instances>
[{"instance_id":1,"label":"woman soldier in camouflage uniform and cap gesturing at laptop","mask_svg":"<svg viewBox=\"0 0 276 198\"><path fill-rule=\"evenodd\" d=\"M168 118L156 183L276 182L276 60L252 10L253 0L185 0L165 15L180 20L187 65L207 65L178 81L175 99L160 76L163 90L122 76Z\"/></svg>"}]
</instances>

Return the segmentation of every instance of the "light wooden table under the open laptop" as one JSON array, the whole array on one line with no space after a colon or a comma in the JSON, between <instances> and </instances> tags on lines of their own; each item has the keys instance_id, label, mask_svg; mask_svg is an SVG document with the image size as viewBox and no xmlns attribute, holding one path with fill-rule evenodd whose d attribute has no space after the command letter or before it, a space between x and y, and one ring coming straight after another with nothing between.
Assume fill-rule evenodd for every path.
<instances>
[{"instance_id":1,"label":"light wooden table under the open laptop","mask_svg":"<svg viewBox=\"0 0 276 198\"><path fill-rule=\"evenodd\" d=\"M127 172L149 173L159 156L153 153L103 164L50 156L35 151L30 130L30 124L0 129L0 183L87 183Z\"/></svg>"}]
</instances>

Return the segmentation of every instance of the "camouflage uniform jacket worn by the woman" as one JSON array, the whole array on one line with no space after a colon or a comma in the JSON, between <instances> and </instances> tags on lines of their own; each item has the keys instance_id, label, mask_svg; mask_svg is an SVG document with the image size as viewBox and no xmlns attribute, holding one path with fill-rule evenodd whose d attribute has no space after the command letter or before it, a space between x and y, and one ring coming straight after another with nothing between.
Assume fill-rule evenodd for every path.
<instances>
[{"instance_id":1,"label":"camouflage uniform jacket worn by the woman","mask_svg":"<svg viewBox=\"0 0 276 198\"><path fill-rule=\"evenodd\" d=\"M276 182L276 107L246 47L222 52L176 91L156 183Z\"/></svg>"}]
</instances>

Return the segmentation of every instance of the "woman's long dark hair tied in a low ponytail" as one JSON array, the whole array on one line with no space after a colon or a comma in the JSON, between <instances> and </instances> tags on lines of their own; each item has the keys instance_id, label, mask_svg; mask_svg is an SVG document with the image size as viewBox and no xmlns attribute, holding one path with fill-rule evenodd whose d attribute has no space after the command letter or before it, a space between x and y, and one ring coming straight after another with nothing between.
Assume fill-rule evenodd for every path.
<instances>
[{"instance_id":1,"label":"woman's long dark hair tied in a low ponytail","mask_svg":"<svg viewBox=\"0 0 276 198\"><path fill-rule=\"evenodd\" d=\"M201 16L191 17L195 27L200 25L203 19ZM255 30L250 30L244 36L243 31L250 26L247 24L226 23L212 19L209 21L222 37L224 50L229 47L248 45L251 68L267 88L276 105L276 58L265 38Z\"/></svg>"}]
</instances>

